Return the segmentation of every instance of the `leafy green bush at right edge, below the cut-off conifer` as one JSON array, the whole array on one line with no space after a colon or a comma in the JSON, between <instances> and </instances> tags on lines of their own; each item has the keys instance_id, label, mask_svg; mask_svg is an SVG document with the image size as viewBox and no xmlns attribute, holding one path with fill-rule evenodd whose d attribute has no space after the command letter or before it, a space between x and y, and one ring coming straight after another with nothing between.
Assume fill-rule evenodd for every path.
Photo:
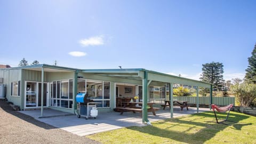
<instances>
[{"instance_id":1,"label":"leafy green bush at right edge, below the cut-off conifer","mask_svg":"<svg viewBox=\"0 0 256 144\"><path fill-rule=\"evenodd\" d=\"M236 84L231 86L231 91L243 107L249 107L256 104L256 85L249 83Z\"/></svg>"}]
</instances>

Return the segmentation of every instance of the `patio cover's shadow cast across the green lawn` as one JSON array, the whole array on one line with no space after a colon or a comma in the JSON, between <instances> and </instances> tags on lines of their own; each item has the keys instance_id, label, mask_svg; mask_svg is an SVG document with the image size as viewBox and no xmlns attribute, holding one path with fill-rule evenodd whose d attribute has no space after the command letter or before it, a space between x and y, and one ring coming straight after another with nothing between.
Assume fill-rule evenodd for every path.
<instances>
[{"instance_id":1,"label":"patio cover's shadow cast across the green lawn","mask_svg":"<svg viewBox=\"0 0 256 144\"><path fill-rule=\"evenodd\" d=\"M226 118L226 115L219 114L219 117ZM249 116L234 113L230 113L229 117L230 121L235 121L237 123L247 118L249 118ZM153 126L147 126L145 129L139 129L138 127L127 127L127 129L155 135L157 137L172 139L179 142L204 143L213 138L218 132L228 127L228 125L217 124L216 121L214 123L205 122L205 120L211 119L214 122L214 114L212 111L207 111L205 113L198 113L186 117L166 119L164 121L155 122ZM245 125L251 124L234 124L235 128L232 126L230 127L231 129L241 130L241 128Z\"/></svg>"}]
</instances>

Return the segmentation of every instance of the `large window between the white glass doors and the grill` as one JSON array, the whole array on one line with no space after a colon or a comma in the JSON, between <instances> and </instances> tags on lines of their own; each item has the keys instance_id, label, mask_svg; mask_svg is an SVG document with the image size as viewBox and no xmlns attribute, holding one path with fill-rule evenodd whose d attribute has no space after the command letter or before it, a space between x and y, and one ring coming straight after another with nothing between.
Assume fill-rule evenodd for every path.
<instances>
[{"instance_id":1,"label":"large window between the white glass doors and the grill","mask_svg":"<svg viewBox=\"0 0 256 144\"><path fill-rule=\"evenodd\" d=\"M73 79L51 83L51 106L62 108L73 107Z\"/></svg>"}]
</instances>

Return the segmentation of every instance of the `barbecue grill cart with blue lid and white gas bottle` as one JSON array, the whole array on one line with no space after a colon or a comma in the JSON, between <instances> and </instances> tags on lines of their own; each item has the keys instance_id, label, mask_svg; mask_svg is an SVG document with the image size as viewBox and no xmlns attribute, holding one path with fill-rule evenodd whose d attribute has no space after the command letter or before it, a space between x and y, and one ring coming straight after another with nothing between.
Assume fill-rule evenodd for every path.
<instances>
[{"instance_id":1,"label":"barbecue grill cart with blue lid and white gas bottle","mask_svg":"<svg viewBox=\"0 0 256 144\"><path fill-rule=\"evenodd\" d=\"M88 119L89 117L96 118L98 116L97 104L100 104L101 102L91 102L91 100L87 100L87 95L85 93L78 93L76 95L76 101L78 118L84 116L85 119Z\"/></svg>"}]
</instances>

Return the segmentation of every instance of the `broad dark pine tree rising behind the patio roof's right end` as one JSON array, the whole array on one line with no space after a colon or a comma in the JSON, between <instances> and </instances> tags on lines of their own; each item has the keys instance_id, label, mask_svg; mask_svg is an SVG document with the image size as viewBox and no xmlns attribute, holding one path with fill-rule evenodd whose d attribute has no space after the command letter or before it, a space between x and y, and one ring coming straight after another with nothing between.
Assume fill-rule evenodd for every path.
<instances>
[{"instance_id":1,"label":"broad dark pine tree rising behind the patio roof's right end","mask_svg":"<svg viewBox=\"0 0 256 144\"><path fill-rule=\"evenodd\" d=\"M223 89L223 65L220 62L205 63L202 65L202 79L203 82L208 82L213 84L213 91L219 91Z\"/></svg>"}]
</instances>

